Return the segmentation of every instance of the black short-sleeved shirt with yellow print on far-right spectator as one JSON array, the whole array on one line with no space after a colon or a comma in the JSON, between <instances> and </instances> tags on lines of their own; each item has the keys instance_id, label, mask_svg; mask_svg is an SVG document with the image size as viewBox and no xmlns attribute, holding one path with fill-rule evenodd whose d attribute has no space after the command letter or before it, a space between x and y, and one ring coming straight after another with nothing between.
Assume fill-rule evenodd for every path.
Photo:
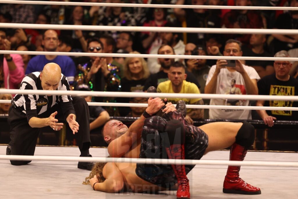
<instances>
[{"instance_id":1,"label":"black short-sleeved shirt with yellow print on far-right spectator","mask_svg":"<svg viewBox=\"0 0 298 199\"><path fill-rule=\"evenodd\" d=\"M288 81L280 81L275 73L263 77L257 83L259 95L298 95L298 80L290 77ZM298 107L297 101L265 101L266 107ZM277 120L298 120L297 111L266 110L268 115L276 117Z\"/></svg>"}]
</instances>

